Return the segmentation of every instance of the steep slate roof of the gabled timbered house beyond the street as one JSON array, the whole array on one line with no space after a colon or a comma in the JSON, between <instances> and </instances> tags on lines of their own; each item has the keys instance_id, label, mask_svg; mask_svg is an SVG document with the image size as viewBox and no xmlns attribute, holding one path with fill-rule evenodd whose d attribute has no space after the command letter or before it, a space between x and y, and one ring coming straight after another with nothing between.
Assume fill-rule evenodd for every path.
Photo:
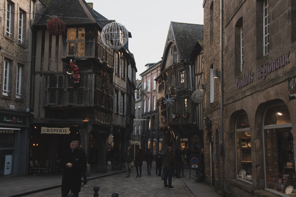
<instances>
[{"instance_id":1,"label":"steep slate roof of the gabled timbered house beyond the street","mask_svg":"<svg viewBox=\"0 0 296 197\"><path fill-rule=\"evenodd\" d=\"M203 41L203 25L171 22L180 59L188 59L197 41Z\"/></svg>"}]
</instances>

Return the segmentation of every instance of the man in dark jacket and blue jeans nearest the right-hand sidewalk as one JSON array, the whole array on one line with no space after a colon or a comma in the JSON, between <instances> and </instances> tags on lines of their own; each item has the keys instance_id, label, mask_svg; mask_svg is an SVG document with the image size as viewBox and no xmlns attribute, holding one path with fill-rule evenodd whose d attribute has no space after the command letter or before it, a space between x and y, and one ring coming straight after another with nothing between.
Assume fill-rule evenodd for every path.
<instances>
[{"instance_id":1,"label":"man in dark jacket and blue jeans nearest the right-hand sidewalk","mask_svg":"<svg viewBox=\"0 0 296 197\"><path fill-rule=\"evenodd\" d=\"M173 188L172 186L172 168L174 166L173 162L173 154L172 154L173 148L168 146L167 150L163 154L163 183L165 185L165 188Z\"/></svg>"}]
</instances>

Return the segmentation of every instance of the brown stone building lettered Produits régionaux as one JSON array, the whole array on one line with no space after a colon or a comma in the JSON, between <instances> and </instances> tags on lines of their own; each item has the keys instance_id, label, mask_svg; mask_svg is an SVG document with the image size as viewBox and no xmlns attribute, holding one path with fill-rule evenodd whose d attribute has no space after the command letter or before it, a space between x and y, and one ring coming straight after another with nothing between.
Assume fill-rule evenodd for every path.
<instances>
[{"instance_id":1,"label":"brown stone building lettered Produits r\u00e9gionaux","mask_svg":"<svg viewBox=\"0 0 296 197\"><path fill-rule=\"evenodd\" d=\"M223 196L291 196L296 2L221 3L203 3L206 183Z\"/></svg>"}]
</instances>

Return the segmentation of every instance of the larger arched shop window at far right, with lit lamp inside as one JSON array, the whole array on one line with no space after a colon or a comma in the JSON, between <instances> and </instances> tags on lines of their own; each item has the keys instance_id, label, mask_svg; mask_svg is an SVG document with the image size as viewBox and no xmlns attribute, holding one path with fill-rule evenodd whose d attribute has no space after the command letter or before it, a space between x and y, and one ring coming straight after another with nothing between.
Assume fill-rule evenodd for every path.
<instances>
[{"instance_id":1,"label":"larger arched shop window at far right, with lit lamp inside","mask_svg":"<svg viewBox=\"0 0 296 197\"><path fill-rule=\"evenodd\" d=\"M295 187L296 177L289 110L282 102L267 108L263 115L266 188L290 194Z\"/></svg>"}]
</instances>

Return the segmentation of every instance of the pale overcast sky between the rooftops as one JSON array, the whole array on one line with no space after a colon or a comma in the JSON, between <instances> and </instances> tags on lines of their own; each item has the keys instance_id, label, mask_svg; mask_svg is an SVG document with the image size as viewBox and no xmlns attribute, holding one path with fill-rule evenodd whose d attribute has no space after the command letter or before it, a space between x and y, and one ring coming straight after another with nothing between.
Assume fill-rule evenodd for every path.
<instances>
[{"instance_id":1,"label":"pale overcast sky between the rooftops","mask_svg":"<svg viewBox=\"0 0 296 197\"><path fill-rule=\"evenodd\" d=\"M203 24L203 0L86 0L94 10L124 25L131 32L128 48L133 53L137 79L148 63L163 56L170 22Z\"/></svg>"}]
</instances>

